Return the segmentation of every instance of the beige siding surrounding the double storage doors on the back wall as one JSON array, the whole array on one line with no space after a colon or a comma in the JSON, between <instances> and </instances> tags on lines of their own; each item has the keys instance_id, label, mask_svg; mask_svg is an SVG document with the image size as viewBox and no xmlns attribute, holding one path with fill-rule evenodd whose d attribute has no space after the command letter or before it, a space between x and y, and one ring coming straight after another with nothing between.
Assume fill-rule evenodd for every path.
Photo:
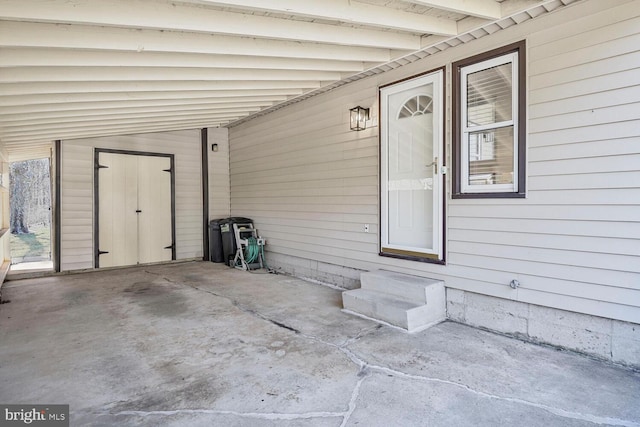
<instances>
[{"instance_id":1,"label":"beige siding surrounding the double storage doors on the back wall","mask_svg":"<svg viewBox=\"0 0 640 427\"><path fill-rule=\"evenodd\" d=\"M93 268L94 148L175 155L176 257L202 257L199 130L65 140L61 143L61 270Z\"/></svg>"}]
</instances>

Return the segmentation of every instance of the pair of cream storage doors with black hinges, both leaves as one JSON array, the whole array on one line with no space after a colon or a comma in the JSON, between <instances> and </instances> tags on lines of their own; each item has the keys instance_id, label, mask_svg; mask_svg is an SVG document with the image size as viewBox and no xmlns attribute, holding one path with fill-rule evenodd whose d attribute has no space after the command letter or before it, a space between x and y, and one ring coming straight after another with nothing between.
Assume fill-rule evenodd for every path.
<instances>
[{"instance_id":1,"label":"pair of cream storage doors with black hinges, both leaves","mask_svg":"<svg viewBox=\"0 0 640 427\"><path fill-rule=\"evenodd\" d=\"M175 259L172 158L96 153L96 267Z\"/></svg>"}]
</instances>

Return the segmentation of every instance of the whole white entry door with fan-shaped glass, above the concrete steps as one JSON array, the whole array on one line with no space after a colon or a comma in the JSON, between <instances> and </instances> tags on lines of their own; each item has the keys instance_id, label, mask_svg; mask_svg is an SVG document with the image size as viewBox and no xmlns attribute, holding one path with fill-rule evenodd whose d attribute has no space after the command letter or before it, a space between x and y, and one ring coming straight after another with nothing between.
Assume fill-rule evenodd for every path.
<instances>
[{"instance_id":1,"label":"whole white entry door with fan-shaped glass, above the concrete steps","mask_svg":"<svg viewBox=\"0 0 640 427\"><path fill-rule=\"evenodd\" d=\"M442 259L442 71L384 87L381 252Z\"/></svg>"}]
</instances>

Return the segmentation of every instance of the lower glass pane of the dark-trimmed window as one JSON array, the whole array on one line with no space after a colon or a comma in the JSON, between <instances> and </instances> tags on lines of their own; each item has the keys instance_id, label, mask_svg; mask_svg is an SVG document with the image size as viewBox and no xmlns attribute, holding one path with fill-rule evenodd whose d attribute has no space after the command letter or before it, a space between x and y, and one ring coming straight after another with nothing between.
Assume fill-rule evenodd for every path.
<instances>
[{"instance_id":1,"label":"lower glass pane of the dark-trimmed window","mask_svg":"<svg viewBox=\"0 0 640 427\"><path fill-rule=\"evenodd\" d=\"M513 126L469 133L469 185L513 184Z\"/></svg>"}]
</instances>

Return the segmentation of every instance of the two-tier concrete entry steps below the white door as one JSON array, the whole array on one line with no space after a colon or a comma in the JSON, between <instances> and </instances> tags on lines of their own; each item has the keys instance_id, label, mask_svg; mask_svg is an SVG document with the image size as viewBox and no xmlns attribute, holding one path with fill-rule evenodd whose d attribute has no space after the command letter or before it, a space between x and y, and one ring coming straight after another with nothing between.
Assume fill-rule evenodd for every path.
<instances>
[{"instance_id":1,"label":"two-tier concrete entry steps below the white door","mask_svg":"<svg viewBox=\"0 0 640 427\"><path fill-rule=\"evenodd\" d=\"M361 274L361 288L342 293L345 310L409 332L446 318L444 282L377 270Z\"/></svg>"}]
</instances>

